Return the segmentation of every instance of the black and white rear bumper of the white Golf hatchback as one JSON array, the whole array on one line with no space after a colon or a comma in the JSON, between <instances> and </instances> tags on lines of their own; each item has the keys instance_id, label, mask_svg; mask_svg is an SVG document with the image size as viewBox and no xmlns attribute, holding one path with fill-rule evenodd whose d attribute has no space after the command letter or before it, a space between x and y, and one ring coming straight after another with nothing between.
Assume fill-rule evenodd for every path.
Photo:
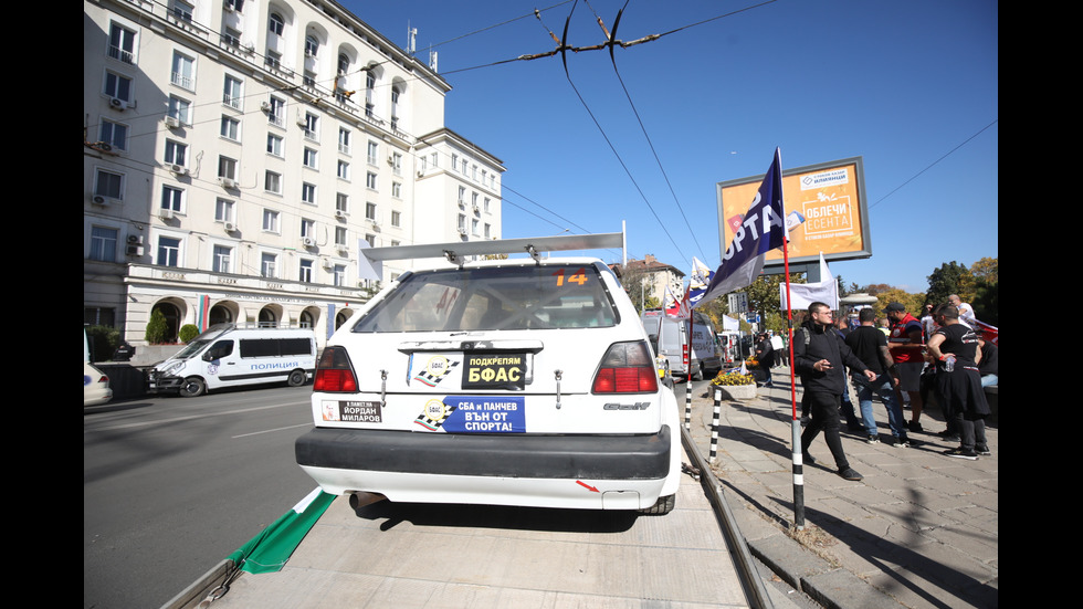
<instances>
[{"instance_id":1,"label":"black and white rear bumper of the white Golf hatchback","mask_svg":"<svg viewBox=\"0 0 1083 609\"><path fill-rule=\"evenodd\" d=\"M672 430L650 435L467 435L314 429L297 463L332 494L397 502L637 510L673 472Z\"/></svg>"}]
</instances>

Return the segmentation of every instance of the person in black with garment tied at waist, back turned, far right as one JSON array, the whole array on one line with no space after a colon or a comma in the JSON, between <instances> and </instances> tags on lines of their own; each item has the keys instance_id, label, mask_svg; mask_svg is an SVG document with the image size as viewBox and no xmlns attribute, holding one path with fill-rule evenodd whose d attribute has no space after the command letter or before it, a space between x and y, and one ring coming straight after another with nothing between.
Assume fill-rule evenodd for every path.
<instances>
[{"instance_id":1,"label":"person in black with garment tied at waist, back turned, far right","mask_svg":"<svg viewBox=\"0 0 1083 609\"><path fill-rule=\"evenodd\" d=\"M959 309L954 303L940 305L935 315L940 327L929 338L928 357L936 365L936 387L944 400L944 416L955 420L960 435L959 447L944 454L974 461L979 454L990 454L985 430L985 418L990 410L978 372L981 361L978 335L959 321Z\"/></svg>"}]
</instances>

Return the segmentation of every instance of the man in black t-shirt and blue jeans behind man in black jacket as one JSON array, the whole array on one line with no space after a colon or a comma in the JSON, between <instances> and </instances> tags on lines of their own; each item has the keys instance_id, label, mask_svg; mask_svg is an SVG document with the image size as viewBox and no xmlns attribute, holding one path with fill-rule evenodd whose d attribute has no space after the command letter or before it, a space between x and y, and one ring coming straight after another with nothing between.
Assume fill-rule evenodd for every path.
<instances>
[{"instance_id":1,"label":"man in black t-shirt and blue jeans behind man in black jacket","mask_svg":"<svg viewBox=\"0 0 1083 609\"><path fill-rule=\"evenodd\" d=\"M858 313L858 323L860 325L847 335L847 346L870 370L876 372L876 379L873 381L869 381L864 375L853 375L852 377L853 386L858 391L858 403L861 407L865 441L870 444L880 442L880 431L872 413L872 397L875 393L880 396L884 402L884 408L887 409L887 426L891 428L894 445L898 448L909 447L903 407L895 397L895 388L889 374L895 363L887 350L887 338L876 329L876 316L871 308L863 308Z\"/></svg>"}]
</instances>

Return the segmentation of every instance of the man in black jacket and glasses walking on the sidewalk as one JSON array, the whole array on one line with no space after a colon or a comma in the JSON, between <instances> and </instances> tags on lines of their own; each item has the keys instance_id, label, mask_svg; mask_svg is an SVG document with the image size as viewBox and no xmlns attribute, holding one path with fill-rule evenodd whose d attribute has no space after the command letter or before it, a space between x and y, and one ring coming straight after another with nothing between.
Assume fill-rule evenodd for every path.
<instances>
[{"instance_id":1,"label":"man in black jacket and glasses walking on the sidewalk","mask_svg":"<svg viewBox=\"0 0 1083 609\"><path fill-rule=\"evenodd\" d=\"M862 475L847 461L839 437L839 406L847 384L844 366L859 370L871 381L876 380L876 374L858 359L834 332L831 307L820 302L810 304L809 319L793 333L793 367L801 376L812 412L812 421L801 433L801 453L811 464L809 444L823 431L839 475L845 480L861 480Z\"/></svg>"}]
</instances>

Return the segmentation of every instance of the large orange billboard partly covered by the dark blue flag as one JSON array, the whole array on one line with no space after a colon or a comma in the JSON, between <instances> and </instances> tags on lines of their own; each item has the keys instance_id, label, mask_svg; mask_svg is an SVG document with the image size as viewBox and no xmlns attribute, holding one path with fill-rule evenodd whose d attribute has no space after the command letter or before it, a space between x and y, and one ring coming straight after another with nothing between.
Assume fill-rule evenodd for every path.
<instances>
[{"instance_id":1,"label":"large orange billboard partly covered by the dark blue flag","mask_svg":"<svg viewBox=\"0 0 1083 609\"><path fill-rule=\"evenodd\" d=\"M718 182L718 234L726 248L740 230L764 176ZM861 157L782 171L782 198L791 263L855 260L872 255L869 204ZM782 250L767 253L765 266L782 263Z\"/></svg>"}]
</instances>

